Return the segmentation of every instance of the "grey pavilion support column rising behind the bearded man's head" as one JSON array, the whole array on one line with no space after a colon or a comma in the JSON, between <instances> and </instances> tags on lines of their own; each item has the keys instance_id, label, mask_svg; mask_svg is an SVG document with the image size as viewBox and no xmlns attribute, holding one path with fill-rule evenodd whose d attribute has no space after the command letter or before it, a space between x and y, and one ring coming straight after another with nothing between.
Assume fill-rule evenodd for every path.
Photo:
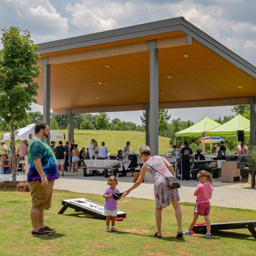
<instances>
[{"instance_id":1,"label":"grey pavilion support column rising behind the bearded man's head","mask_svg":"<svg viewBox=\"0 0 256 256\"><path fill-rule=\"evenodd\" d=\"M50 89L51 89L51 66L49 65L49 59L43 58L43 121L50 126ZM50 137L46 139L46 143L50 144Z\"/></svg>"}]
</instances>

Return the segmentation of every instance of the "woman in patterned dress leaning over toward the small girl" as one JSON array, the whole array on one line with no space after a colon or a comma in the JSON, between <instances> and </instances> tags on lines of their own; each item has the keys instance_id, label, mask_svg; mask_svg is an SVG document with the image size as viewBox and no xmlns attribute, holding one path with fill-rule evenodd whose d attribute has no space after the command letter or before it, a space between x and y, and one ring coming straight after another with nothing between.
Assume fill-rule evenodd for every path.
<instances>
[{"instance_id":1,"label":"woman in patterned dress leaning over toward the small girl","mask_svg":"<svg viewBox=\"0 0 256 256\"><path fill-rule=\"evenodd\" d=\"M136 183L133 184L129 188L129 190L125 191L123 196L127 196L134 188L138 187L144 177L146 171L149 171L154 178L154 197L156 200L156 223L157 223L157 232L154 234L156 237L161 237L161 212L163 208L169 206L172 203L172 206L175 211L177 224L178 224L178 232L177 238L182 238L182 230L181 230L181 209L179 206L179 192L177 188L171 188L167 183L166 179L161 176L161 174L157 173L153 169L158 172L164 174L164 176L174 176L174 170L172 165L163 157L160 156L150 156L150 147L149 146L141 146L138 149L139 157L145 163L140 170L140 175ZM153 167L153 169L151 168Z\"/></svg>"}]
</instances>

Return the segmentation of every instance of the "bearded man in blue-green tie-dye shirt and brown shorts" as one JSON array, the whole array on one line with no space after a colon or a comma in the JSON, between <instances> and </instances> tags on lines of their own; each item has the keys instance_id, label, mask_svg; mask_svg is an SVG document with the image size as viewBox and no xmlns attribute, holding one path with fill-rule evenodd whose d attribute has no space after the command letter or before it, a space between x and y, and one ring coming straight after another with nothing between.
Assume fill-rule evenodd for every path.
<instances>
[{"instance_id":1,"label":"bearded man in blue-green tie-dye shirt and brown shorts","mask_svg":"<svg viewBox=\"0 0 256 256\"><path fill-rule=\"evenodd\" d=\"M48 138L49 132L48 124L37 123L35 137L31 140L28 149L28 182L32 197L31 234L40 237L56 232L55 228L44 225L44 210L51 207L53 183L59 178L55 154L44 141Z\"/></svg>"}]
</instances>

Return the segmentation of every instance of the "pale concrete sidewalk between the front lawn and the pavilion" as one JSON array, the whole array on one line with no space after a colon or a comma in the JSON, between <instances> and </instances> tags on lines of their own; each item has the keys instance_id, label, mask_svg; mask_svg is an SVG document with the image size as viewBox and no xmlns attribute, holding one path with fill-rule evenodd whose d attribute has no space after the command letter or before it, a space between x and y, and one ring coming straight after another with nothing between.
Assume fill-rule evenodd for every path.
<instances>
[{"instance_id":1,"label":"pale concrete sidewalk between the front lawn and the pavilion","mask_svg":"<svg viewBox=\"0 0 256 256\"><path fill-rule=\"evenodd\" d=\"M103 176L83 177L78 173L65 172L64 177L55 181L57 190L69 190L80 193L103 194L107 184ZM118 189L125 191L132 186L133 177L120 177ZM196 180L180 181L179 196L181 202L195 203L194 189L198 184ZM256 189L250 188L247 183L221 183L220 179L214 179L214 191L211 199L212 206L242 208L256 210ZM142 183L133 190L129 197L154 200L154 184Z\"/></svg>"}]
</instances>

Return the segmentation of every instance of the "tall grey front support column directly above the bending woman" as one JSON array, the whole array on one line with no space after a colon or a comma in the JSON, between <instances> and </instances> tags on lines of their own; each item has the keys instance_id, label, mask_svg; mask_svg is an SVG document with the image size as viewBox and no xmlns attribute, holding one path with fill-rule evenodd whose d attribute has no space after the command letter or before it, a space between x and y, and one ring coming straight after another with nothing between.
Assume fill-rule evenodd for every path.
<instances>
[{"instance_id":1,"label":"tall grey front support column directly above the bending woman","mask_svg":"<svg viewBox=\"0 0 256 256\"><path fill-rule=\"evenodd\" d=\"M158 49L157 40L147 42L150 50L150 113L149 131L151 155L158 154Z\"/></svg>"}]
</instances>

